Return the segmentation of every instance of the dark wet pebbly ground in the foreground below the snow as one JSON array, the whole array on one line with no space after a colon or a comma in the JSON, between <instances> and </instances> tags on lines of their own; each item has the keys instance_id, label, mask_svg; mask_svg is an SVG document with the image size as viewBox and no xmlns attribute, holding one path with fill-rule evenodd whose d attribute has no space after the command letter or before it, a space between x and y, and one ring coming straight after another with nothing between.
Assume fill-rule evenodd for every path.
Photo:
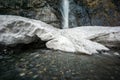
<instances>
[{"instance_id":1,"label":"dark wet pebbly ground in the foreground below the snow","mask_svg":"<svg viewBox=\"0 0 120 80\"><path fill-rule=\"evenodd\" d=\"M120 57L47 49L1 53L0 80L120 80Z\"/></svg>"}]
</instances>

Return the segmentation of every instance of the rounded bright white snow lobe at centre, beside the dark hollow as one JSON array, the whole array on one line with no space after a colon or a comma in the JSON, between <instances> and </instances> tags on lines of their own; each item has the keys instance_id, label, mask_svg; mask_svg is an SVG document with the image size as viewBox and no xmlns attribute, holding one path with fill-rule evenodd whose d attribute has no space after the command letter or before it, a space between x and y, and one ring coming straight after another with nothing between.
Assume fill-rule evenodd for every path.
<instances>
[{"instance_id":1,"label":"rounded bright white snow lobe at centre, beside the dark hollow","mask_svg":"<svg viewBox=\"0 0 120 80\"><path fill-rule=\"evenodd\" d=\"M46 46L50 49L62 50L67 52L75 52L74 44L66 37L58 36L57 38L48 41Z\"/></svg>"}]
</instances>

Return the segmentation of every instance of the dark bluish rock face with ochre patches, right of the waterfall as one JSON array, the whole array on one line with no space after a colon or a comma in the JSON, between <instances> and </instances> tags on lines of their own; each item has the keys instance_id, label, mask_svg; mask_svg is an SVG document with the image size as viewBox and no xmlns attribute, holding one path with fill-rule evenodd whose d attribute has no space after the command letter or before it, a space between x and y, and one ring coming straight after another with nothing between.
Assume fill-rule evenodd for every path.
<instances>
[{"instance_id":1,"label":"dark bluish rock face with ochre patches, right of the waterfall","mask_svg":"<svg viewBox=\"0 0 120 80\"><path fill-rule=\"evenodd\" d=\"M70 25L120 26L119 0L70 1Z\"/></svg>"}]
</instances>

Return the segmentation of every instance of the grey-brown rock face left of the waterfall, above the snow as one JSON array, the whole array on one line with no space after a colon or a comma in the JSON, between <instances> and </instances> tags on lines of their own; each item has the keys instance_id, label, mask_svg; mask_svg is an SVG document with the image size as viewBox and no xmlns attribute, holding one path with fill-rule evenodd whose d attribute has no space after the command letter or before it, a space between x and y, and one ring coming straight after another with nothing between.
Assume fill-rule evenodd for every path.
<instances>
[{"instance_id":1,"label":"grey-brown rock face left of the waterfall, above the snow","mask_svg":"<svg viewBox=\"0 0 120 80\"><path fill-rule=\"evenodd\" d=\"M59 27L59 19L49 4L46 0L4 0L0 1L0 14L19 15Z\"/></svg>"}]
</instances>

